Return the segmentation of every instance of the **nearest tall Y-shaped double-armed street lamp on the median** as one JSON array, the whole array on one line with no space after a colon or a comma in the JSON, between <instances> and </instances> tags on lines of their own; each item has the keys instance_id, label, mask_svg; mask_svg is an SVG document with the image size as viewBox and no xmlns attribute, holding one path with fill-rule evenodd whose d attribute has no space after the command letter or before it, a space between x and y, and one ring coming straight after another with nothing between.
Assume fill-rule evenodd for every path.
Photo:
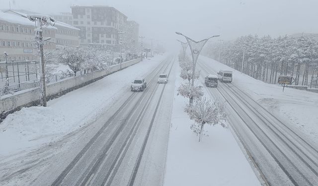
<instances>
[{"instance_id":1,"label":"nearest tall Y-shaped double-armed street lamp on the median","mask_svg":"<svg viewBox=\"0 0 318 186\"><path fill-rule=\"evenodd\" d=\"M214 38L214 37L219 37L220 35L214 35L214 36L211 36L211 37L204 39L204 40L201 40L201 41L194 41L193 39L183 35L180 32L175 32L175 33L178 35L184 36L185 39L188 41L188 44L189 44L190 49L191 49L191 54L192 54L192 83L191 83L191 86L193 88L194 87L195 66L196 66L196 63L197 63L197 60L198 60L198 57L200 55L202 48L204 47L204 45L207 43L207 41L209 39ZM190 104L193 104L193 97L191 97L191 95L190 95Z\"/></svg>"}]
</instances>

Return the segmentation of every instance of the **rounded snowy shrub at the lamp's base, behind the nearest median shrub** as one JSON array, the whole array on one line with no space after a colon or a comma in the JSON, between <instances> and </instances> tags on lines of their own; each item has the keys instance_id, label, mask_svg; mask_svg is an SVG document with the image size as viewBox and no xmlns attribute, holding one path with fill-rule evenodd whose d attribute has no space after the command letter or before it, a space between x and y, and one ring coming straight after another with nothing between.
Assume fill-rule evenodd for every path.
<instances>
[{"instance_id":1,"label":"rounded snowy shrub at the lamp's base, behind the nearest median shrub","mask_svg":"<svg viewBox=\"0 0 318 186\"><path fill-rule=\"evenodd\" d=\"M194 85L192 87L189 83L181 83L178 87L177 95L189 98L189 103L191 104L191 100L198 99L203 96L202 86Z\"/></svg>"}]
</instances>

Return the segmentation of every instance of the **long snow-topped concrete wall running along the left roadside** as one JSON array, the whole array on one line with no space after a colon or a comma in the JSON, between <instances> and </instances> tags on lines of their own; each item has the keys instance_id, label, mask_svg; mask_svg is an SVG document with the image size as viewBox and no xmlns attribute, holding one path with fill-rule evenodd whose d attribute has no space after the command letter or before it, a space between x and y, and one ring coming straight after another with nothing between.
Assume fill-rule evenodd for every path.
<instances>
[{"instance_id":1,"label":"long snow-topped concrete wall running along the left roadside","mask_svg":"<svg viewBox=\"0 0 318 186\"><path fill-rule=\"evenodd\" d=\"M140 62L141 59L131 60L122 63L122 68L126 68ZM110 67L108 70L94 71L91 73L70 77L47 85L48 100L60 97L70 91L83 87L97 81L120 69L120 64ZM0 122L10 113L20 110L22 107L35 106L40 103L40 90L33 88L5 95L0 98Z\"/></svg>"}]
</instances>

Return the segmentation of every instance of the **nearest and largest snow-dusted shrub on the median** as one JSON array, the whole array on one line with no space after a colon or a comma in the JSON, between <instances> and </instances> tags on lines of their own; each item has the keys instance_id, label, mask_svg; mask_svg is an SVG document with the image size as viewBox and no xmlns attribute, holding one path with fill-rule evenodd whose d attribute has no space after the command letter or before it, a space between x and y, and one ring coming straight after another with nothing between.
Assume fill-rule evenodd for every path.
<instances>
[{"instance_id":1,"label":"nearest and largest snow-dusted shrub on the median","mask_svg":"<svg viewBox=\"0 0 318 186\"><path fill-rule=\"evenodd\" d=\"M220 124L226 127L224 122L226 121L226 114L222 104L212 102L210 99L204 97L196 99L195 103L186 105L184 112L193 120L195 124L191 125L191 129L196 134L199 134L199 142L202 139L204 133L204 125L216 125Z\"/></svg>"}]
</instances>

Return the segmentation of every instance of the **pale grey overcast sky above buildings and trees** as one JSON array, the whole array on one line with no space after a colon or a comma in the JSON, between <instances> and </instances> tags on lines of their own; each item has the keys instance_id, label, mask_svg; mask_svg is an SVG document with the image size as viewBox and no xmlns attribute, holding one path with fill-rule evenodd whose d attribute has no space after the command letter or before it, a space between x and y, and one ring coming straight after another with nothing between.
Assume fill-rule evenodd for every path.
<instances>
[{"instance_id":1,"label":"pale grey overcast sky above buildings and trees","mask_svg":"<svg viewBox=\"0 0 318 186\"><path fill-rule=\"evenodd\" d=\"M5 5L7 1L7 5ZM176 46L178 31L195 40L318 33L318 0L10 0L12 9L71 12L70 5L109 5L140 24L140 35ZM0 0L1 7L9 0ZM213 40L212 39L212 40ZM212 41L213 42L213 41Z\"/></svg>"}]
</instances>

